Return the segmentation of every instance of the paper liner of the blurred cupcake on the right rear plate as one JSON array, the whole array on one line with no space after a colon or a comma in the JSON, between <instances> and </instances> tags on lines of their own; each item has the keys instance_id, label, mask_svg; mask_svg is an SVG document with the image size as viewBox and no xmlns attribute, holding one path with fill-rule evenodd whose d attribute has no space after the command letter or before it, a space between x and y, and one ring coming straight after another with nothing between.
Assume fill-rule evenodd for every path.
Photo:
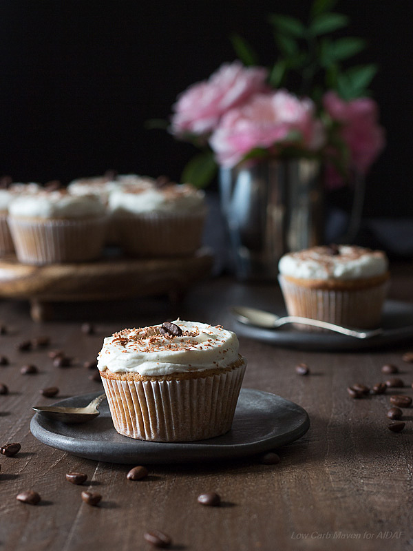
<instances>
[{"instance_id":1,"label":"paper liner of the blurred cupcake on the right rear plate","mask_svg":"<svg viewBox=\"0 0 413 551\"><path fill-rule=\"evenodd\" d=\"M385 281L366 289L327 290L301 287L279 276L288 315L299 315L337 325L372 329L380 325L388 289ZM296 324L306 331L325 331Z\"/></svg>"}]
</instances>

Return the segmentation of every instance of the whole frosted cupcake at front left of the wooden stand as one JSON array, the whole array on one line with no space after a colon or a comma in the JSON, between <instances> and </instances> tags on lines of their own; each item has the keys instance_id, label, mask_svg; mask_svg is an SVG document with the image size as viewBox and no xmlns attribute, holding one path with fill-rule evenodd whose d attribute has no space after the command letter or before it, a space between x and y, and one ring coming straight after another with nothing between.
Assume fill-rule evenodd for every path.
<instances>
[{"instance_id":1,"label":"whole frosted cupcake at front left of the wooden stand","mask_svg":"<svg viewBox=\"0 0 413 551\"><path fill-rule=\"evenodd\" d=\"M83 262L100 256L107 216L96 196L43 190L14 199L8 224L19 262Z\"/></svg>"}]
</instances>

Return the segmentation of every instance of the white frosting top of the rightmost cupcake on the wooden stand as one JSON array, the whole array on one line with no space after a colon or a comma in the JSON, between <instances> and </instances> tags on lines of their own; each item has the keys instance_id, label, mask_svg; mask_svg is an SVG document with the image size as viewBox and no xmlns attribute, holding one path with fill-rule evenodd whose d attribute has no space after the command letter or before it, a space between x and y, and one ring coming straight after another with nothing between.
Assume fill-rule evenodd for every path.
<instances>
[{"instance_id":1,"label":"white frosting top of the rightmost cupcake on the wooden stand","mask_svg":"<svg viewBox=\"0 0 413 551\"><path fill-rule=\"evenodd\" d=\"M149 212L191 213L204 209L204 191L189 184L163 183L141 178L125 184L109 197L109 209L134 214Z\"/></svg>"}]
</instances>

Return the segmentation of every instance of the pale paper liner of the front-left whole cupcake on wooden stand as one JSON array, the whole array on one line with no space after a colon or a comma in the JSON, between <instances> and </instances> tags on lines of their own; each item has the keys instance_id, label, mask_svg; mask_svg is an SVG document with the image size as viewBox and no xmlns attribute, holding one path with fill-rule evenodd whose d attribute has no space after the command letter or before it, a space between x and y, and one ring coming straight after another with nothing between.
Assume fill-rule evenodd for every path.
<instances>
[{"instance_id":1,"label":"pale paper liner of the front-left whole cupcake on wooden stand","mask_svg":"<svg viewBox=\"0 0 413 551\"><path fill-rule=\"evenodd\" d=\"M23 264L83 262L100 256L107 218L27 220L8 218L17 259Z\"/></svg>"}]
</instances>

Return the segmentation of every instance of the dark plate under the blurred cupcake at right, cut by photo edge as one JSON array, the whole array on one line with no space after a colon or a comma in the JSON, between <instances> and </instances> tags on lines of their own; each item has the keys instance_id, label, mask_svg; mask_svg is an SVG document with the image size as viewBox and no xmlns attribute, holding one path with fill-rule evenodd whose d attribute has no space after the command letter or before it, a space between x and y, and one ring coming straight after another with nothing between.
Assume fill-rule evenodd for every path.
<instances>
[{"instance_id":1,"label":"dark plate under the blurred cupcake at right, cut by photo edge","mask_svg":"<svg viewBox=\"0 0 413 551\"><path fill-rule=\"evenodd\" d=\"M285 315L285 312L277 312ZM356 339L339 333L326 331L299 331L293 325L280 329L260 329L234 322L234 331L238 336L251 337L262 342L286 346L299 350L344 351L372 349L389 346L413 338L413 304L387 300L384 304L382 325L383 333L371 339Z\"/></svg>"}]
</instances>

